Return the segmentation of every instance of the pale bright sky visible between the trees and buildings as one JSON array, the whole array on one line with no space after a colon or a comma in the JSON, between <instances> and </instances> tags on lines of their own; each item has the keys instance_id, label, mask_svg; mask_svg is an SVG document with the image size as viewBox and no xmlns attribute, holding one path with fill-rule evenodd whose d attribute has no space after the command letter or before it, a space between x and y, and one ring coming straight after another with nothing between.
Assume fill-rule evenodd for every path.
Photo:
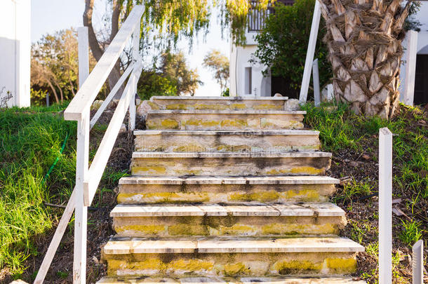
<instances>
[{"instance_id":1,"label":"pale bright sky visible between the trees and buildings","mask_svg":"<svg viewBox=\"0 0 428 284\"><path fill-rule=\"evenodd\" d=\"M105 12L106 0L95 0L93 22L101 22ZM32 0L31 13L31 39L37 41L44 34L52 34L60 29L83 26L84 0ZM197 68L203 86L199 86L195 95L220 95L220 86L213 80L210 70L202 66L203 57L215 48L229 57L230 41L221 38L221 28L217 20L218 11L211 15L209 33L205 40L203 36L194 40L192 50L189 50L187 41L180 41L180 48L187 55L187 63L192 68Z\"/></svg>"}]
</instances>

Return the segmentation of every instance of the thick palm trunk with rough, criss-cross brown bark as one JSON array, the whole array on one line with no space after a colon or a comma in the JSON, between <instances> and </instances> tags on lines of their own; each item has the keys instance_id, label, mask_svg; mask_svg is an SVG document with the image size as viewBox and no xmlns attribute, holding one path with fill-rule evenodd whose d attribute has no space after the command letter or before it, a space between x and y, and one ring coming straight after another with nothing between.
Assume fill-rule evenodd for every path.
<instances>
[{"instance_id":1,"label":"thick palm trunk with rough, criss-cross brown bark","mask_svg":"<svg viewBox=\"0 0 428 284\"><path fill-rule=\"evenodd\" d=\"M400 0L319 0L326 20L337 102L356 114L389 119L399 103L399 72L408 6Z\"/></svg>"}]
</instances>

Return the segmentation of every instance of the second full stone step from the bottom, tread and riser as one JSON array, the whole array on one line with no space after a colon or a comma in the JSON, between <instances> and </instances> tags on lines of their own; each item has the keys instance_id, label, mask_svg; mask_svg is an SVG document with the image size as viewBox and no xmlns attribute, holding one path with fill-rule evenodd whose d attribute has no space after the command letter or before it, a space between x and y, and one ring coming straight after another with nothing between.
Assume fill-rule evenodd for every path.
<instances>
[{"instance_id":1,"label":"second full stone step from the bottom, tread and riser","mask_svg":"<svg viewBox=\"0 0 428 284\"><path fill-rule=\"evenodd\" d=\"M118 236L327 236L346 225L332 203L117 205Z\"/></svg>"}]
</instances>

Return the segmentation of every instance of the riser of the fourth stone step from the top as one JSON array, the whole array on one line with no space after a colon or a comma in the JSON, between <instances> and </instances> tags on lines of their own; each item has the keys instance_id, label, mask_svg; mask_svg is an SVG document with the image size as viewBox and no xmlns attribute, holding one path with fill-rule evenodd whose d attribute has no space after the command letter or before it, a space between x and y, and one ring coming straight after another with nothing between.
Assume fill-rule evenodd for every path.
<instances>
[{"instance_id":1,"label":"riser of the fourth stone step from the top","mask_svg":"<svg viewBox=\"0 0 428 284\"><path fill-rule=\"evenodd\" d=\"M214 158L136 158L131 163L132 175L324 175L330 168L328 156L290 157L214 157Z\"/></svg>"}]
</instances>

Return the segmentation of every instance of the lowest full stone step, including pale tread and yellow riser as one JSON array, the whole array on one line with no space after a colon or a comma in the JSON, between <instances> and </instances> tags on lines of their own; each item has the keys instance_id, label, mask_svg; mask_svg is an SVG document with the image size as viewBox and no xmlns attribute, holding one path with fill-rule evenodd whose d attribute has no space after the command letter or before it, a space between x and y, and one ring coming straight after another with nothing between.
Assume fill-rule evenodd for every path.
<instances>
[{"instance_id":1,"label":"lowest full stone step, including pale tread and yellow riser","mask_svg":"<svg viewBox=\"0 0 428 284\"><path fill-rule=\"evenodd\" d=\"M109 276L337 275L356 271L363 246L347 238L112 238Z\"/></svg>"}]
</instances>

